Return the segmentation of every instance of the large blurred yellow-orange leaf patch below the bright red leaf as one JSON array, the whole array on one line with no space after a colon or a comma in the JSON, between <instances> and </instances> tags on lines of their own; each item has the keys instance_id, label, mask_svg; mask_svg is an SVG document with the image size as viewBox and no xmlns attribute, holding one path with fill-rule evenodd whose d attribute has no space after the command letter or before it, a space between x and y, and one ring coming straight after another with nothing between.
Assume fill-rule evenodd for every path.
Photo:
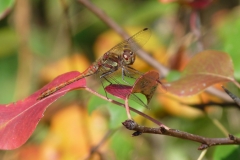
<instances>
[{"instance_id":1,"label":"large blurred yellow-orange leaf patch below the bright red leaf","mask_svg":"<svg viewBox=\"0 0 240 160\"><path fill-rule=\"evenodd\" d=\"M68 106L52 118L50 132L41 147L42 159L84 159L106 132L106 120L98 112L89 116L83 107ZM104 149L102 146L99 151Z\"/></svg>"}]
</instances>

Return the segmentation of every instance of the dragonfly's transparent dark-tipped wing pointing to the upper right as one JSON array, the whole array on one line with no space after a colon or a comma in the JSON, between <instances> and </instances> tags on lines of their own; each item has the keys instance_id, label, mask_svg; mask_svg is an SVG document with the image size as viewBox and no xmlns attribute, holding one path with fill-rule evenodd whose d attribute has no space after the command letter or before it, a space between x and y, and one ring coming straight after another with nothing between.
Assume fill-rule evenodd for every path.
<instances>
[{"instance_id":1,"label":"dragonfly's transparent dark-tipped wing pointing to the upper right","mask_svg":"<svg viewBox=\"0 0 240 160\"><path fill-rule=\"evenodd\" d=\"M117 44L108 52L121 54L124 48L129 48L133 52L137 52L139 48L147 43L151 36L151 31L148 28L144 28L143 30L139 31L132 37L128 38L127 40Z\"/></svg>"}]
</instances>

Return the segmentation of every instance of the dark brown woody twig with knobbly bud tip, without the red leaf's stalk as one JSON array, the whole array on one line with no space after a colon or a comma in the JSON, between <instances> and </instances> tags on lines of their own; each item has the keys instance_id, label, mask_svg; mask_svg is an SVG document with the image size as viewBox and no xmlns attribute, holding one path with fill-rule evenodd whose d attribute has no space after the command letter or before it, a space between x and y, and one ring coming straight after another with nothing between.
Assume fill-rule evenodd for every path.
<instances>
[{"instance_id":1,"label":"dark brown woody twig with knobbly bud tip, without the red leaf's stalk","mask_svg":"<svg viewBox=\"0 0 240 160\"><path fill-rule=\"evenodd\" d=\"M178 137L181 139L187 139L187 140L199 142L201 143L201 145L198 147L198 150L204 150L211 146L216 146L216 145L232 145L232 144L239 145L240 144L240 138L237 138L231 134L228 135L228 138L207 138L207 137L194 135L194 134L183 132L176 129L165 128L163 126L160 126L159 128L150 128L150 127L140 126L133 120L126 120L125 122L123 122L123 125L129 130L136 131L133 133L133 136L138 136L142 133L151 133L151 134L167 135L171 137Z\"/></svg>"}]
</instances>

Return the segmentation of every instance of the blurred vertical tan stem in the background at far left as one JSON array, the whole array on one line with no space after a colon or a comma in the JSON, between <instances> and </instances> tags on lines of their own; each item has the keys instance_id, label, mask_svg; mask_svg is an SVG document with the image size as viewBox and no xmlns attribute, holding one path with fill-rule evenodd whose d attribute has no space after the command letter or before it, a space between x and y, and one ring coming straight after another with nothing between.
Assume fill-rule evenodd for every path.
<instances>
[{"instance_id":1,"label":"blurred vertical tan stem in the background at far left","mask_svg":"<svg viewBox=\"0 0 240 160\"><path fill-rule=\"evenodd\" d=\"M28 95L30 90L31 78L33 74L32 51L29 47L30 35L30 2L16 1L14 10L14 23L16 33L19 38L18 48L18 71L16 77L16 89L14 99L19 99ZM23 87L24 86L24 87Z\"/></svg>"}]
</instances>

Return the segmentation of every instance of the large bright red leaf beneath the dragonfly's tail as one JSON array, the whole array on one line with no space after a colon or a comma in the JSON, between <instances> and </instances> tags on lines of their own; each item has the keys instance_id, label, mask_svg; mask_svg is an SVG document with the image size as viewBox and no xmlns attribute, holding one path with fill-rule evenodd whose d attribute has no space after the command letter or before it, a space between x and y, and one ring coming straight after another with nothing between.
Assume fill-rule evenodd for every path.
<instances>
[{"instance_id":1,"label":"large bright red leaf beneath the dragonfly's tail","mask_svg":"<svg viewBox=\"0 0 240 160\"><path fill-rule=\"evenodd\" d=\"M37 100L45 90L79 75L69 72L55 78L51 83L28 98L16 103L0 105L0 149L15 149L31 136L46 108L68 91L86 86L85 79L76 81L42 100Z\"/></svg>"}]
</instances>

